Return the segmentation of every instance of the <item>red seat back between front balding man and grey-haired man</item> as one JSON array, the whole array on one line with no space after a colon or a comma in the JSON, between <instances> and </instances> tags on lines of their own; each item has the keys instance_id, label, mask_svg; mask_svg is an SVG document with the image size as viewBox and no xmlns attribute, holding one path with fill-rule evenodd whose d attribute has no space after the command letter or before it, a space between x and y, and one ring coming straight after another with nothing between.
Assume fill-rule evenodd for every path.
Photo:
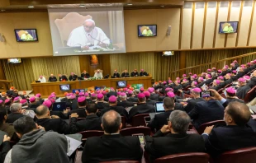
<instances>
[{"instance_id":1,"label":"red seat back between front balding man and grey-haired man","mask_svg":"<svg viewBox=\"0 0 256 163\"><path fill-rule=\"evenodd\" d=\"M121 129L120 134L122 136L132 136L134 134L140 134L143 133L143 135L151 135L151 129L148 127L140 126L140 127L131 127L131 128L124 128Z\"/></svg>"}]
</instances>

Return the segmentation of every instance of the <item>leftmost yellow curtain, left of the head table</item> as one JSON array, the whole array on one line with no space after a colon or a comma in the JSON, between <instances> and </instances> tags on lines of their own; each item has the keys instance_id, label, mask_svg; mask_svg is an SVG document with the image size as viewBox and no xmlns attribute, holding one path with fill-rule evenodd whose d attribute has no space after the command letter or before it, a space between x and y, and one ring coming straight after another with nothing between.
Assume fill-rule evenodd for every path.
<instances>
[{"instance_id":1,"label":"leftmost yellow curtain, left of the head table","mask_svg":"<svg viewBox=\"0 0 256 163\"><path fill-rule=\"evenodd\" d=\"M12 85L18 90L31 90L31 81L34 80L30 58L22 58L22 63L7 63L1 60L2 68L7 80L12 80Z\"/></svg>"}]
</instances>

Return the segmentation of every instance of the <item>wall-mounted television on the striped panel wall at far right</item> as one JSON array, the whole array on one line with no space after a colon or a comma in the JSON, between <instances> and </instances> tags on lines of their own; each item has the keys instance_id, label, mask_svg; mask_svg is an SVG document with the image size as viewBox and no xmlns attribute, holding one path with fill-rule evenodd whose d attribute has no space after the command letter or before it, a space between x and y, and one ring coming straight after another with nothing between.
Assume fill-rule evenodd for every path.
<instances>
[{"instance_id":1,"label":"wall-mounted television on the striped panel wall at far right","mask_svg":"<svg viewBox=\"0 0 256 163\"><path fill-rule=\"evenodd\" d=\"M220 34L237 33L238 21L223 21L220 22Z\"/></svg>"}]
</instances>

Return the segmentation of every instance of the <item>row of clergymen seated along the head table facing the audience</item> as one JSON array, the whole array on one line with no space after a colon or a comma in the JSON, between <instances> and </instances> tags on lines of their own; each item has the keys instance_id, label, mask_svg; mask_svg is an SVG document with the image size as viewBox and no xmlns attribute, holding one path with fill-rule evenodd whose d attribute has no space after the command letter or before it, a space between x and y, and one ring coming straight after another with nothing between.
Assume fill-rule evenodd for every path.
<instances>
[{"instance_id":1,"label":"row of clergymen seated along the head table facing the audience","mask_svg":"<svg viewBox=\"0 0 256 163\"><path fill-rule=\"evenodd\" d=\"M118 72L116 69L113 72L113 75L111 76L111 78L118 78L118 77L145 77L145 76L149 76L148 72L145 72L144 69L141 69L140 72L137 71L137 69L135 69L133 72L127 72L127 70L125 70L124 72L122 72L120 74L120 72ZM59 74L59 81L77 81L79 80L85 80L88 79L90 76L90 74L88 72L86 72L86 70L84 70L81 73L81 76L78 77L78 75L76 75L75 73L71 72L70 76L69 76L69 80L68 77L64 74ZM96 78L103 78L102 72L100 72L100 70L97 70L97 72L95 72L94 76ZM46 82L45 77L40 76L38 78L38 81L40 82ZM50 77L48 78L48 81L53 82L53 81L58 81L57 77L54 76L54 74L50 74Z\"/></svg>"}]
</instances>

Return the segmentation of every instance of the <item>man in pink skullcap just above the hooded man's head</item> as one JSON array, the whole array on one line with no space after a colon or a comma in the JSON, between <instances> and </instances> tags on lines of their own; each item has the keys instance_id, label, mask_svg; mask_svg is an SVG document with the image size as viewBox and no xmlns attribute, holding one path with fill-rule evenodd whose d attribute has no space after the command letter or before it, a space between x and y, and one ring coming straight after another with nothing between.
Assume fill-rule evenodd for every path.
<instances>
[{"instance_id":1,"label":"man in pink skullcap just above the hooded man's head","mask_svg":"<svg viewBox=\"0 0 256 163\"><path fill-rule=\"evenodd\" d=\"M8 114L7 116L7 123L14 123L17 119L20 119L21 117L25 116L23 115L23 112L25 109L22 109L20 103L13 103L10 106L11 114Z\"/></svg>"}]
</instances>

